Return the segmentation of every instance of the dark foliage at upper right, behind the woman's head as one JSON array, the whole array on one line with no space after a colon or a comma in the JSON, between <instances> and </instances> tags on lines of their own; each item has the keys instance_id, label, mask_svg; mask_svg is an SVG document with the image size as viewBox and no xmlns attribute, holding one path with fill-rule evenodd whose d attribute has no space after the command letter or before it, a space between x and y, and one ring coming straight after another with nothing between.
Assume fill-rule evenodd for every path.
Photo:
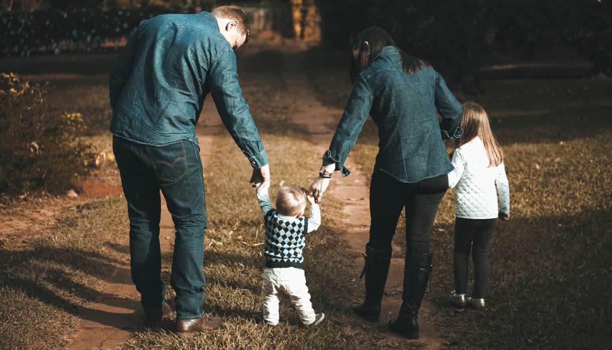
<instances>
[{"instance_id":1,"label":"dark foliage at upper right, behind the woman's head","mask_svg":"<svg viewBox=\"0 0 612 350\"><path fill-rule=\"evenodd\" d=\"M529 56L570 49L586 56L592 73L610 76L612 4L609 0L317 0L321 29L334 45L347 45L367 26L386 29L407 53L427 59L461 83L499 54Z\"/></svg>"}]
</instances>

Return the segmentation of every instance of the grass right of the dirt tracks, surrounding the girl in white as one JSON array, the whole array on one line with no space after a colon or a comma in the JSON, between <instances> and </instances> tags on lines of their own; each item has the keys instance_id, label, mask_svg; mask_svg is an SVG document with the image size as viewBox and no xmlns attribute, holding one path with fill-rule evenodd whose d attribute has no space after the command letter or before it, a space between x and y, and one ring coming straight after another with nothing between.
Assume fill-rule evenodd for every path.
<instances>
[{"instance_id":1,"label":"grass right of the dirt tracks, surrounding the girl in white","mask_svg":"<svg viewBox=\"0 0 612 350\"><path fill-rule=\"evenodd\" d=\"M341 108L350 89L345 62L338 56L321 67L321 53L310 54L319 62L312 72L325 72L312 75L321 102ZM457 94L485 106L506 154L512 218L498 224L491 244L490 306L464 311L447 301L452 190L431 237L435 270L426 297L438 332L457 348L603 349L612 341L612 81L512 79L517 73L497 72L480 93ZM368 121L351 154L367 173L377 144ZM396 239L405 245L403 225Z\"/></svg>"}]
</instances>

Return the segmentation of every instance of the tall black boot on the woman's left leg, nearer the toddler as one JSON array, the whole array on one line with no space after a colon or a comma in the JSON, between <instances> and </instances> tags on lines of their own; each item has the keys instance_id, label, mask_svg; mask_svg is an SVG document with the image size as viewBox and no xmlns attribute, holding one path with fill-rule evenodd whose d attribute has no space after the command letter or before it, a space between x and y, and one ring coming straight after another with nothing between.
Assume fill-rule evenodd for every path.
<instances>
[{"instance_id":1,"label":"tall black boot on the woman's left leg, nearer the toddler","mask_svg":"<svg viewBox=\"0 0 612 350\"><path fill-rule=\"evenodd\" d=\"M378 322L384 285L391 263L391 250L377 250L365 245L364 257L365 266L359 278L365 275L365 302L357 305L354 310L366 321Z\"/></svg>"}]
</instances>

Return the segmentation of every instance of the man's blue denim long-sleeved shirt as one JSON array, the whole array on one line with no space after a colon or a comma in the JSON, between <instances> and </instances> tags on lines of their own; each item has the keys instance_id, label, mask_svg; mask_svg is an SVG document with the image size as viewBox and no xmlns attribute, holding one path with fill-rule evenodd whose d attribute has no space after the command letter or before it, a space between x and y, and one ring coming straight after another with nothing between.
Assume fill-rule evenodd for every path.
<instances>
[{"instance_id":1,"label":"man's blue denim long-sleeved shirt","mask_svg":"<svg viewBox=\"0 0 612 350\"><path fill-rule=\"evenodd\" d=\"M113 135L165 146L198 143L195 124L208 92L223 124L253 168L268 163L242 98L236 54L208 12L143 21L110 74Z\"/></svg>"}]
</instances>

